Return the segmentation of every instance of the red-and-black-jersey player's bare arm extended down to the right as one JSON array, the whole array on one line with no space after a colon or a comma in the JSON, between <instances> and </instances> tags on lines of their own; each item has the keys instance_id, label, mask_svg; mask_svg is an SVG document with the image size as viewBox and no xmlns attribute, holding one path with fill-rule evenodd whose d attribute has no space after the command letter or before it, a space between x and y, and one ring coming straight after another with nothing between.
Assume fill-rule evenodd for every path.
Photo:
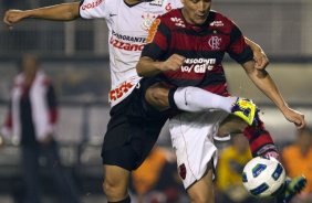
<instances>
[{"instance_id":1,"label":"red-and-black-jersey player's bare arm extended down to the right","mask_svg":"<svg viewBox=\"0 0 312 203\"><path fill-rule=\"evenodd\" d=\"M271 78L266 70L254 68L254 62L250 61L242 64L247 75L254 83L254 85L270 98L277 107L282 111L284 117L293 122L299 129L304 128L304 115L291 109L284 101L279 92L274 81Z\"/></svg>"}]
</instances>

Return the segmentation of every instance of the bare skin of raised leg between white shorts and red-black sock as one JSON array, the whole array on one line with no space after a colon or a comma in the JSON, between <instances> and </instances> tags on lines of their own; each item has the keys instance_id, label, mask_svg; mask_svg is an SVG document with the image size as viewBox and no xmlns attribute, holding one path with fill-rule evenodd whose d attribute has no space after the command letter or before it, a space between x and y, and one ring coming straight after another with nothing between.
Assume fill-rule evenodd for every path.
<instances>
[{"instance_id":1,"label":"bare skin of raised leg between white shorts and red-black sock","mask_svg":"<svg viewBox=\"0 0 312 203\"><path fill-rule=\"evenodd\" d=\"M220 124L218 136L223 137L230 133L241 133L248 125L237 116L229 115Z\"/></svg>"}]
</instances>

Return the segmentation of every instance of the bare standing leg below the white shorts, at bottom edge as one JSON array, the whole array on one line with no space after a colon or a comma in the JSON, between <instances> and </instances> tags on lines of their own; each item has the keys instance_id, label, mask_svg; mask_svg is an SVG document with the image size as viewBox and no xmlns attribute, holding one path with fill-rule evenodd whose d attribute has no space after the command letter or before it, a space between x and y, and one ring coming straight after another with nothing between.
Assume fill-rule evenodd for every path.
<instances>
[{"instance_id":1,"label":"bare standing leg below the white shorts, at bottom edge","mask_svg":"<svg viewBox=\"0 0 312 203\"><path fill-rule=\"evenodd\" d=\"M214 203L215 202L212 175L214 175L214 167L210 161L207 167L207 171L205 175L187 189L187 193L191 202L195 202L195 203L197 202Z\"/></svg>"}]
</instances>

